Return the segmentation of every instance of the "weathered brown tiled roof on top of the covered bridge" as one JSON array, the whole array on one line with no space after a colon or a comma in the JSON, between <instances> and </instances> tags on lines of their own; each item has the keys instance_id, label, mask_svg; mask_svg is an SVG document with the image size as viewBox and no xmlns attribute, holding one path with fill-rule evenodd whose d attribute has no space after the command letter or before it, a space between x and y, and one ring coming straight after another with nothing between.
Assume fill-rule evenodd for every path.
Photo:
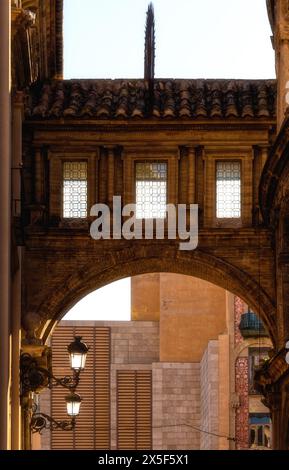
<instances>
[{"instance_id":1,"label":"weathered brown tiled roof on top of the covered bridge","mask_svg":"<svg viewBox=\"0 0 289 470\"><path fill-rule=\"evenodd\" d=\"M275 80L55 80L27 95L26 119L268 119Z\"/></svg>"}]
</instances>

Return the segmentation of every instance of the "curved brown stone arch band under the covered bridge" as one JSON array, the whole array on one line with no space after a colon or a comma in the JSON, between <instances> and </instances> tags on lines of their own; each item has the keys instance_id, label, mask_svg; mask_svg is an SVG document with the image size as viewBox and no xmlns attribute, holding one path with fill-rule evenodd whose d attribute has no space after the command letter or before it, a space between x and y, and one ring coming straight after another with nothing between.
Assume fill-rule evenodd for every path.
<instances>
[{"instance_id":1,"label":"curved brown stone arch band under the covered bridge","mask_svg":"<svg viewBox=\"0 0 289 470\"><path fill-rule=\"evenodd\" d=\"M273 344L276 340L275 307L259 284L244 271L201 250L180 251L176 245L136 244L104 252L69 275L39 306L37 337L47 341L67 311L90 292L113 281L150 272L171 272L198 277L241 297L260 314ZM28 314L29 317L29 314Z\"/></svg>"}]
</instances>

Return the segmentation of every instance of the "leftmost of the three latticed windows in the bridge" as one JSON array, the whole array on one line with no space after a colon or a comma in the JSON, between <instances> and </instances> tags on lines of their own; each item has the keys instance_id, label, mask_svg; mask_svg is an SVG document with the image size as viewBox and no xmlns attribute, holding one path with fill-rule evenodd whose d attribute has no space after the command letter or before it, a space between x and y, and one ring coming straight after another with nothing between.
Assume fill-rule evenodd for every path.
<instances>
[{"instance_id":1,"label":"leftmost of the three latticed windows in the bridge","mask_svg":"<svg viewBox=\"0 0 289 470\"><path fill-rule=\"evenodd\" d=\"M63 164L63 217L87 217L87 163Z\"/></svg>"}]
</instances>

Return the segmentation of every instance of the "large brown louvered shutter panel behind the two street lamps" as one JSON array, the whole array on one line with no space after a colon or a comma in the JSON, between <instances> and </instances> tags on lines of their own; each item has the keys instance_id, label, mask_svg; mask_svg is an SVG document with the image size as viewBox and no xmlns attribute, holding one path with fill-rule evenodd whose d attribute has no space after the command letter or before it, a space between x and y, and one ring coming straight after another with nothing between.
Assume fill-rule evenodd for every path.
<instances>
[{"instance_id":1,"label":"large brown louvered shutter panel behind the two street lamps","mask_svg":"<svg viewBox=\"0 0 289 470\"><path fill-rule=\"evenodd\" d=\"M82 336L90 347L77 393L82 397L80 414L73 431L51 432L52 449L110 448L110 329L58 326L52 336L53 372L71 375L66 347L74 336ZM67 420L63 387L51 392L51 411L56 420Z\"/></svg>"}]
</instances>

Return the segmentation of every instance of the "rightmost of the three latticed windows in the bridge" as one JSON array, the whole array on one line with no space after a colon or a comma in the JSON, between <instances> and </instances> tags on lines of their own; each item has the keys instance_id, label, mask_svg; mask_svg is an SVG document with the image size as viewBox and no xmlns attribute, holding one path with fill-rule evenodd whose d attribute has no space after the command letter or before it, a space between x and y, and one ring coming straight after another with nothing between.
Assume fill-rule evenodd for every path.
<instances>
[{"instance_id":1,"label":"rightmost of the three latticed windows in the bridge","mask_svg":"<svg viewBox=\"0 0 289 470\"><path fill-rule=\"evenodd\" d=\"M217 162L217 217L241 217L241 163Z\"/></svg>"}]
</instances>

